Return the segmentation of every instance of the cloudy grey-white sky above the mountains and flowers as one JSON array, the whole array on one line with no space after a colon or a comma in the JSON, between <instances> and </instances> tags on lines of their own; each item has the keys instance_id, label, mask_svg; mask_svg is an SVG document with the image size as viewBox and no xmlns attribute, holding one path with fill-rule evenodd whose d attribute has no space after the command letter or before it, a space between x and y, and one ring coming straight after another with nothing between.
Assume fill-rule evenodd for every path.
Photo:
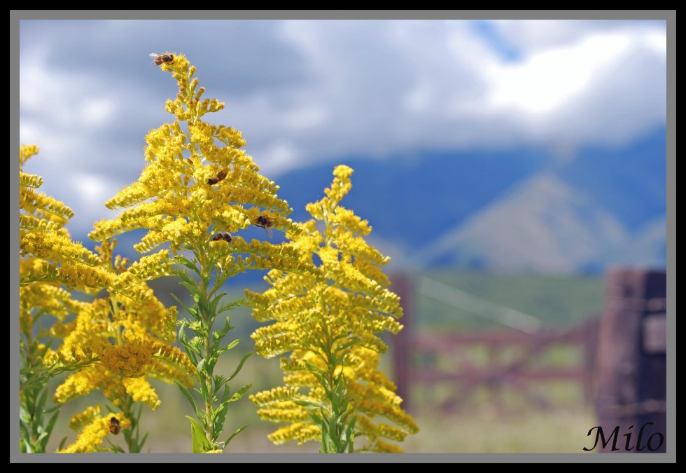
<instances>
[{"instance_id":1,"label":"cloudy grey-white sky above the mountains and flowers","mask_svg":"<svg viewBox=\"0 0 686 473\"><path fill-rule=\"evenodd\" d=\"M288 170L407 149L542 146L571 160L666 125L664 20L20 20L25 170L92 228L173 117L150 53L185 54L208 116Z\"/></svg>"}]
</instances>

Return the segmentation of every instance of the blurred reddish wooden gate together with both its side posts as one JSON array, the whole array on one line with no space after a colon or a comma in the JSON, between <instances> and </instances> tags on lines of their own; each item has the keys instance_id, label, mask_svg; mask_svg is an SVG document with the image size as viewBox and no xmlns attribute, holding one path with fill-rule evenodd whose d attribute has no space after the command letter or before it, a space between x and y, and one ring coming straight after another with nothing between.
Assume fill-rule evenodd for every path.
<instances>
[{"instance_id":1,"label":"blurred reddish wooden gate together with both its side posts","mask_svg":"<svg viewBox=\"0 0 686 473\"><path fill-rule=\"evenodd\" d=\"M412 393L417 386L426 392L447 388L447 398L438 406L444 411L460 408L473 392L484 388L492 399L507 388L545 407L547 399L535 389L537 385L572 381L581 387L584 400L596 406L606 434L617 425L622 435L629 425L638 430L649 422L653 432L665 433L664 273L612 270L606 276L600 317L577 327L531 333L419 333L414 327L412 278L395 275L392 280L405 311L405 329L392 339L394 381L405 409L414 408ZM541 366L540 355L559 345L575 348L580 357L569 366ZM475 348L486 352L485 362L470 360L468 353ZM611 445L603 450L611 450Z\"/></svg>"}]
</instances>

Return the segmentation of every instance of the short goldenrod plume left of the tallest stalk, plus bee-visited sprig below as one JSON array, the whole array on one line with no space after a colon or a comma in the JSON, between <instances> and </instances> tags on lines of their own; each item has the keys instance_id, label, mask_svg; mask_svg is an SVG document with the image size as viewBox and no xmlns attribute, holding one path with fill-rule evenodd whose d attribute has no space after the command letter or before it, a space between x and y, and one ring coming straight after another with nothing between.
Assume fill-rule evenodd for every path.
<instances>
[{"instance_id":1,"label":"short goldenrod plume left of the tallest stalk, plus bee-visited sprig below","mask_svg":"<svg viewBox=\"0 0 686 473\"><path fill-rule=\"evenodd\" d=\"M76 319L62 329L62 346L49 356L65 361L94 357L94 364L71 373L57 387L54 401L63 404L100 390L112 406L121 410L113 414L118 416L120 425L108 426L116 431L131 425L130 416L139 415L136 403L151 409L160 406L149 378L190 386L195 381L195 366L185 353L171 345L176 338L176 308L166 308L141 281L169 272L167 250L127 267L127 259L113 256L115 246L116 241L109 240L97 246L102 261L100 269L113 277L109 297L81 303ZM104 419L111 420L111 416ZM101 446L100 433L94 421L84 427L77 441L65 451L106 449ZM142 441L137 431L130 436L127 446L132 452L140 451Z\"/></svg>"}]
</instances>

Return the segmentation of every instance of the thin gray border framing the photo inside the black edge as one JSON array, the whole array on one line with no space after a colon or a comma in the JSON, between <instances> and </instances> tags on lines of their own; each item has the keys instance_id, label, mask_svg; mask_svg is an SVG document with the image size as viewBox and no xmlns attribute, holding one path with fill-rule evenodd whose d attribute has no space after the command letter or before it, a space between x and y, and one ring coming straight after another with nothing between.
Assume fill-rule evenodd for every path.
<instances>
[{"instance_id":1,"label":"thin gray border framing the photo inside the black edge","mask_svg":"<svg viewBox=\"0 0 686 473\"><path fill-rule=\"evenodd\" d=\"M19 172L16 156L19 149L19 27L20 20L269 20L269 19L513 19L513 20L665 20L667 32L667 406L669 413L676 412L676 11L675 10L10 10L10 209L18 207L19 180L12 179ZM230 455L194 455L193 453L140 453L121 455L68 455L43 453L21 454L15 439L19 437L19 342L14 335L19 331L15 316L19 305L19 221L10 217L10 463L656 463L676 462L676 417L667 418L667 453L636 455L587 455L584 453L406 453L405 455L351 454L318 455L300 453L231 453Z\"/></svg>"}]
</instances>

